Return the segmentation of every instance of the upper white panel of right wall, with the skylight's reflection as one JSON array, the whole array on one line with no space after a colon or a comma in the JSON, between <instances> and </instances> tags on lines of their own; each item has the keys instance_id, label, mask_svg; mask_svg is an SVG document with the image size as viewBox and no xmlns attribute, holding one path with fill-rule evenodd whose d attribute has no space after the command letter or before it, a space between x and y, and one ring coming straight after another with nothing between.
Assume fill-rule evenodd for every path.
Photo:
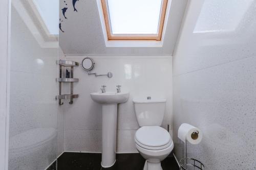
<instances>
[{"instance_id":1,"label":"upper white panel of right wall, with the skylight's reflection","mask_svg":"<svg viewBox=\"0 0 256 170\"><path fill-rule=\"evenodd\" d=\"M209 6L210 3L215 4L215 6ZM250 3L247 10L238 9L239 6L242 7L247 3ZM254 1L247 3L237 1L232 8L219 8L228 5L228 1L199 0L191 2L175 50L179 57L174 58L174 75L254 56L256 54L254 47L256 18L253 17L253 14L256 9ZM207 9L209 7L211 8ZM212 12L209 14L208 11ZM239 20L238 17L234 16L234 18L226 21L226 15L230 15L230 12L242 13L243 17ZM218 26L218 22L226 22L226 26L234 22L238 23L238 26L233 28L233 31L217 30L211 32L205 30L205 32L196 33L195 27L200 18L210 18L211 16L208 15L216 16L216 27L222 27L222 25Z\"/></svg>"}]
</instances>

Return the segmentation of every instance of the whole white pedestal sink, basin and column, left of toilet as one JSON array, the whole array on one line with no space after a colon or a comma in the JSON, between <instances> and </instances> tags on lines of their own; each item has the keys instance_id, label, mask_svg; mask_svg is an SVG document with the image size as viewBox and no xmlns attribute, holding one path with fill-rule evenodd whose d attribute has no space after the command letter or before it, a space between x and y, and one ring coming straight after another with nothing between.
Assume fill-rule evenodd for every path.
<instances>
[{"instance_id":1,"label":"whole white pedestal sink, basin and column, left of toilet","mask_svg":"<svg viewBox=\"0 0 256 170\"><path fill-rule=\"evenodd\" d=\"M128 92L94 92L91 98L102 104L102 167L111 167L116 162L117 104L128 100Z\"/></svg>"}]
</instances>

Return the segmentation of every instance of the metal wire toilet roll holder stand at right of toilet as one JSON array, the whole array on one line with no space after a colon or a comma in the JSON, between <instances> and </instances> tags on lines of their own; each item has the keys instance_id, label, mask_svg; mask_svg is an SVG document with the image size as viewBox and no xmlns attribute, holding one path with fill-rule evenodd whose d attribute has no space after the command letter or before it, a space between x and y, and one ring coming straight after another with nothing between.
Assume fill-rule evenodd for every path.
<instances>
[{"instance_id":1,"label":"metal wire toilet roll holder stand at right of toilet","mask_svg":"<svg viewBox=\"0 0 256 170\"><path fill-rule=\"evenodd\" d=\"M198 138L198 134L199 131L194 131L191 134L191 138L192 139L197 139ZM180 170L188 170L188 169L200 169L200 170L204 170L204 164L202 162L200 162L197 159L194 158L189 158L187 157L187 140L185 142L185 158L184 158L184 142L182 141L182 158L180 160Z\"/></svg>"}]
</instances>

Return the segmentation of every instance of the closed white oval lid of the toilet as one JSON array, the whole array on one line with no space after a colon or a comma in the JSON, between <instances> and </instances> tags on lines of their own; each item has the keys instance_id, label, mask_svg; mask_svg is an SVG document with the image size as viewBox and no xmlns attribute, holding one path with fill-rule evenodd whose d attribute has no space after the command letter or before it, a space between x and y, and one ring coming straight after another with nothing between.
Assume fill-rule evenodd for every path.
<instances>
[{"instance_id":1,"label":"closed white oval lid of the toilet","mask_svg":"<svg viewBox=\"0 0 256 170\"><path fill-rule=\"evenodd\" d=\"M135 139L148 147L160 147L170 141L170 134L159 126L143 126L135 133Z\"/></svg>"}]
</instances>

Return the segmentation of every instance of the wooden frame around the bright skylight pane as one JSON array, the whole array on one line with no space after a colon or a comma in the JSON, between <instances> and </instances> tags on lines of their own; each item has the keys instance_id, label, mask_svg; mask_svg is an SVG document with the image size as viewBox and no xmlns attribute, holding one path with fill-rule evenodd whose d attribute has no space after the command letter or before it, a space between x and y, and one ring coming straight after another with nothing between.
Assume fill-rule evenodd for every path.
<instances>
[{"instance_id":1,"label":"wooden frame around the bright skylight pane","mask_svg":"<svg viewBox=\"0 0 256 170\"><path fill-rule=\"evenodd\" d=\"M101 0L108 40L156 40L161 41L168 0L162 0L158 34L113 34L108 10L108 0Z\"/></svg>"}]
</instances>

